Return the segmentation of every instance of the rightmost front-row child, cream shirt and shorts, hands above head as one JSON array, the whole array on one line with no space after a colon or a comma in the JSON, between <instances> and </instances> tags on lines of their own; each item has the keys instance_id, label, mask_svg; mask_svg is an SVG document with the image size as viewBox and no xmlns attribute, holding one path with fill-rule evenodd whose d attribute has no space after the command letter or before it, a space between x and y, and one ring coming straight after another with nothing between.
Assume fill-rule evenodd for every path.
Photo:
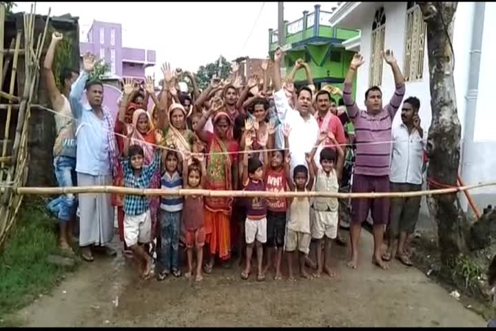
<instances>
[{"instance_id":1,"label":"rightmost front-row child, cream shirt and shorts, hands above head","mask_svg":"<svg viewBox=\"0 0 496 331\"><path fill-rule=\"evenodd\" d=\"M327 137L334 144L335 150L332 148L324 148L320 151L320 167L317 169L315 159L318 145L326 140ZM342 165L344 162L344 152L339 146L332 132L322 132L319 140L311 150L311 166L316 171L316 192L333 192L338 193L339 182L341 179ZM338 157L336 159L336 154ZM315 210L315 219L311 228L311 237L316 239L317 250L317 271L313 274L314 277L320 277L322 269L329 274L330 277L335 277L335 272L329 267L329 254L333 239L338 237L338 198L316 197L313 200L313 210ZM325 237L325 239L324 239ZM322 239L324 239L324 261L322 261ZM323 267L322 267L323 264Z\"/></svg>"}]
</instances>

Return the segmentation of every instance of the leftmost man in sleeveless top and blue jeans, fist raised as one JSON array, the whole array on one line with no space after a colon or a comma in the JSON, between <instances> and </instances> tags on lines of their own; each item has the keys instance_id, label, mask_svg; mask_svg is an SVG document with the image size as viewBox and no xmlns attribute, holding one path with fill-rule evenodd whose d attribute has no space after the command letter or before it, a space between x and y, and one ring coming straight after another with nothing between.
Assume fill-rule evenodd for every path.
<instances>
[{"instance_id":1,"label":"leftmost man in sleeveless top and blue jeans, fist raised","mask_svg":"<svg viewBox=\"0 0 496 331\"><path fill-rule=\"evenodd\" d=\"M52 63L55 57L55 48L63 35L59 32L52 34L52 41L48 46L43 74L48 90L48 97L55 114L56 138L53 148L54 172L60 187L76 186L76 123L72 120L72 112L68 100L72 83L76 81L79 72L70 68L63 68L60 74L62 92L56 86ZM74 194L63 194L53 199L47 205L51 212L59 219L59 245L62 250L72 252L70 239L72 238L70 224L76 217L77 200Z\"/></svg>"}]
</instances>

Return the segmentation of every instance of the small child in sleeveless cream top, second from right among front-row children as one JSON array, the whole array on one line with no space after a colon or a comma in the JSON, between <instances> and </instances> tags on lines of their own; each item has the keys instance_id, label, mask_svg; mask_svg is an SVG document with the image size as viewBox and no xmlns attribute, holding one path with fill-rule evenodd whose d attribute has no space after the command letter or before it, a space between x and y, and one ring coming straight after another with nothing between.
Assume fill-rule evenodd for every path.
<instances>
[{"instance_id":1,"label":"small child in sleeveless cream top, second from right among front-row children","mask_svg":"<svg viewBox=\"0 0 496 331\"><path fill-rule=\"evenodd\" d=\"M291 165L291 155L286 157L286 180L289 190L296 192L307 192L313 186L313 167L311 166L310 155L306 154L309 170L304 165L296 165L293 170L293 178L289 171ZM309 178L310 173L310 178ZM310 275L305 271L305 257L309 253L310 247L310 198L289 198L290 217L286 232L286 252L288 261L289 280L294 281L293 277L293 255L298 248L298 263L300 265L300 275L303 278L310 278Z\"/></svg>"}]
</instances>

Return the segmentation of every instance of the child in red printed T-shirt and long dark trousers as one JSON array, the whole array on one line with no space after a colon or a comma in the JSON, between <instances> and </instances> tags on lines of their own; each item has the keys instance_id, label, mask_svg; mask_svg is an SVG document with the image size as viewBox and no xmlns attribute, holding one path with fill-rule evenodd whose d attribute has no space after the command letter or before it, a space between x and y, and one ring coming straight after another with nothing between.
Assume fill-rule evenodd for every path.
<instances>
[{"instance_id":1,"label":"child in red printed T-shirt and long dark trousers","mask_svg":"<svg viewBox=\"0 0 496 331\"><path fill-rule=\"evenodd\" d=\"M285 146L289 148L289 132L291 129L288 124L282 128L282 134L285 137ZM270 167L267 169L265 176L265 190L268 192L285 192L286 190L286 170L285 170L285 151L276 150L272 152ZM265 271L271 268L274 253L276 255L276 276L275 280L282 279L280 272L280 263L282 259L282 248L284 247L284 237L286 231L286 198L267 198L267 265Z\"/></svg>"}]
</instances>

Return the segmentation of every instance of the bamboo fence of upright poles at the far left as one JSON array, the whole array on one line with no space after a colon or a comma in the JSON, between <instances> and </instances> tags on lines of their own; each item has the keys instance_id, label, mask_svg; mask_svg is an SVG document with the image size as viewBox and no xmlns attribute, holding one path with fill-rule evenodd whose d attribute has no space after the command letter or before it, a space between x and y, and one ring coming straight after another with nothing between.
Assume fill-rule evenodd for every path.
<instances>
[{"instance_id":1,"label":"bamboo fence of upright poles at the far left","mask_svg":"<svg viewBox=\"0 0 496 331\"><path fill-rule=\"evenodd\" d=\"M39 79L39 61L50 21L50 10L48 10L45 19L43 32L35 36L36 3L31 5L30 12L23 14L23 28L19 29L14 40L10 41L10 49L8 50L3 49L5 15L6 8L0 3L0 82L2 83L0 100L6 99L8 101L6 104L0 102L0 110L6 110L5 133L0 157L0 185L6 187L0 191L0 245L14 224L23 199L23 195L12 187L25 185L28 178L28 122L34 86L37 85ZM14 48L12 49L12 47ZM24 60L24 81L19 81L19 77L17 77L19 57L23 57ZM11 61L9 90L3 92L1 88L8 74ZM16 82L20 87L19 90L23 92L22 97L14 95ZM14 111L17 111L17 125L14 134L12 134L13 137L11 137L10 126L14 122L12 120L15 118L12 116ZM12 146L9 146L8 143L12 141Z\"/></svg>"}]
</instances>

